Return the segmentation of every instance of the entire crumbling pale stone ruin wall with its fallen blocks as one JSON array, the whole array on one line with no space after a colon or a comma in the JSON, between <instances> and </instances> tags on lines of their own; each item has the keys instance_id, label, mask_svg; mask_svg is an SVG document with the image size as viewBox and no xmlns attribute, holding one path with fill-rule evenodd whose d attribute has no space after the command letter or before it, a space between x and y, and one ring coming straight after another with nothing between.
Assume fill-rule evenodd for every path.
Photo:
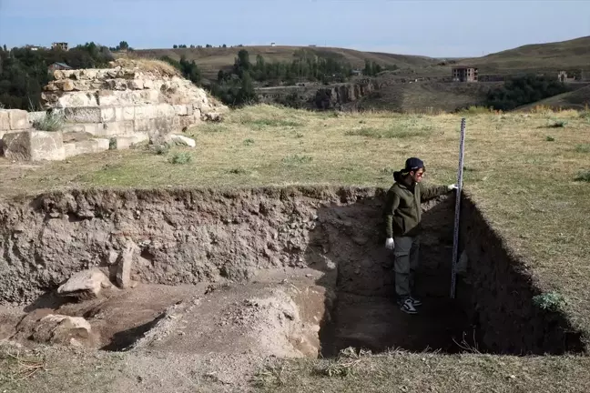
<instances>
[{"instance_id":1,"label":"entire crumbling pale stone ruin wall with its fallen blocks","mask_svg":"<svg viewBox=\"0 0 590 393\"><path fill-rule=\"evenodd\" d=\"M202 121L219 121L227 106L169 70L111 64L107 69L56 70L42 93L44 109L64 116L61 132L33 129L46 111L0 110L0 155L61 160L164 139ZM67 143L67 136L84 135Z\"/></svg>"}]
</instances>

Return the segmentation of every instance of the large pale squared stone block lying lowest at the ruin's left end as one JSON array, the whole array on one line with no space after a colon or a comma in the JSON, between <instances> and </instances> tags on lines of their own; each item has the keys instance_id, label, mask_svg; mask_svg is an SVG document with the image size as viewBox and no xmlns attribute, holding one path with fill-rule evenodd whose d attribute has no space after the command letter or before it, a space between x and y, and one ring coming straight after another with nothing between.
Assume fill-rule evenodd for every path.
<instances>
[{"instance_id":1,"label":"large pale squared stone block lying lowest at the ruin's left end","mask_svg":"<svg viewBox=\"0 0 590 393\"><path fill-rule=\"evenodd\" d=\"M66 157L61 132L23 131L3 136L6 158L16 161L63 160Z\"/></svg>"}]
</instances>

